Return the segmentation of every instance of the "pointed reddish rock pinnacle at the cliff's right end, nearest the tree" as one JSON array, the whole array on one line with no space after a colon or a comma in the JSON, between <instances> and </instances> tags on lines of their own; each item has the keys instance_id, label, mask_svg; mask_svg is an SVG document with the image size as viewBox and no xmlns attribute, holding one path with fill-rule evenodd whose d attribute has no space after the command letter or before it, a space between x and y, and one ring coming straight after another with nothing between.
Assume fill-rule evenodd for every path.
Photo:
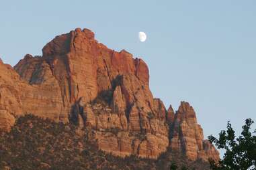
<instances>
[{"instance_id":1,"label":"pointed reddish rock pinnacle at the cliff's right end, nearest the tree","mask_svg":"<svg viewBox=\"0 0 256 170\"><path fill-rule=\"evenodd\" d=\"M212 150L208 141L204 141L203 130L196 119L196 112L188 102L181 102L175 114L173 128L171 129L170 146L180 151L189 159L218 159L218 151Z\"/></svg>"}]
</instances>

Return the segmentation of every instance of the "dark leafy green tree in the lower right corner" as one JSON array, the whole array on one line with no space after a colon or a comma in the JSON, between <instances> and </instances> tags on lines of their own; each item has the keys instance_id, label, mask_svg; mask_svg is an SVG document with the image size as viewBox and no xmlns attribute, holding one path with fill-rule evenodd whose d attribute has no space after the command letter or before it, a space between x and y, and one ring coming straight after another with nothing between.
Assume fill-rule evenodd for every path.
<instances>
[{"instance_id":1,"label":"dark leafy green tree in the lower right corner","mask_svg":"<svg viewBox=\"0 0 256 170\"><path fill-rule=\"evenodd\" d=\"M212 135L208 137L210 143L214 143L218 149L224 149L223 159L218 163L210 160L212 169L223 170L246 170L256 169L256 130L251 132L253 120L245 120L243 131L239 137L235 137L234 130L230 122L227 124L227 130L221 131L219 139Z\"/></svg>"}]
</instances>

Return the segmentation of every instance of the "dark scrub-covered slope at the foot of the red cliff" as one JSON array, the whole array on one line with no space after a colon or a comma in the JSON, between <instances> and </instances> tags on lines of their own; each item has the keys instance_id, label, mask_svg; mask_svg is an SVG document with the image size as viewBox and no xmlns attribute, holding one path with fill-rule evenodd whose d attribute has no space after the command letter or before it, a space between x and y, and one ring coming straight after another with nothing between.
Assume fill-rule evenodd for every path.
<instances>
[{"instance_id":1,"label":"dark scrub-covered slope at the foot of the red cliff","mask_svg":"<svg viewBox=\"0 0 256 170\"><path fill-rule=\"evenodd\" d=\"M208 169L208 163L190 162L170 151L157 160L114 157L88 141L88 131L22 116L9 133L0 135L0 169L170 169L174 162L183 169Z\"/></svg>"}]
</instances>

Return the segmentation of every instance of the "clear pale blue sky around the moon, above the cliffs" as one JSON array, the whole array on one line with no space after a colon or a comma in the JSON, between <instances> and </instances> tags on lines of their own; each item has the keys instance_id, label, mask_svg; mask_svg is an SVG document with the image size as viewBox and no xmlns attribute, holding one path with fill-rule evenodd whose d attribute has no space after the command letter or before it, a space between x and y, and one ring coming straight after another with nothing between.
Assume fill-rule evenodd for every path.
<instances>
[{"instance_id":1,"label":"clear pale blue sky around the moon, above the cliffs","mask_svg":"<svg viewBox=\"0 0 256 170\"><path fill-rule=\"evenodd\" d=\"M87 27L101 43L140 56L155 97L190 102L204 135L256 120L256 1L2 1L0 57L41 55L54 36ZM148 39L138 41L138 31Z\"/></svg>"}]
</instances>

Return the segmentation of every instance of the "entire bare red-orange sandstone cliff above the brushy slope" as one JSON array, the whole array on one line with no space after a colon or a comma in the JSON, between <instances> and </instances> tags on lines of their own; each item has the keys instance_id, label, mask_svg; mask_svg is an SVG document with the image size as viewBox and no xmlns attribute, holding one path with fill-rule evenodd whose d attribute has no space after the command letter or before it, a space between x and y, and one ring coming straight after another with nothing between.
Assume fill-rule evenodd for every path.
<instances>
[{"instance_id":1,"label":"entire bare red-orange sandstone cliff above the brushy slope","mask_svg":"<svg viewBox=\"0 0 256 170\"><path fill-rule=\"evenodd\" d=\"M56 36L42 51L42 57L26 55L14 69L0 62L5 129L14 116L32 113L90 129L99 149L122 157L156 159L171 147L191 160L218 159L188 103L181 102L175 114L153 98L143 60L110 50L79 28Z\"/></svg>"}]
</instances>

